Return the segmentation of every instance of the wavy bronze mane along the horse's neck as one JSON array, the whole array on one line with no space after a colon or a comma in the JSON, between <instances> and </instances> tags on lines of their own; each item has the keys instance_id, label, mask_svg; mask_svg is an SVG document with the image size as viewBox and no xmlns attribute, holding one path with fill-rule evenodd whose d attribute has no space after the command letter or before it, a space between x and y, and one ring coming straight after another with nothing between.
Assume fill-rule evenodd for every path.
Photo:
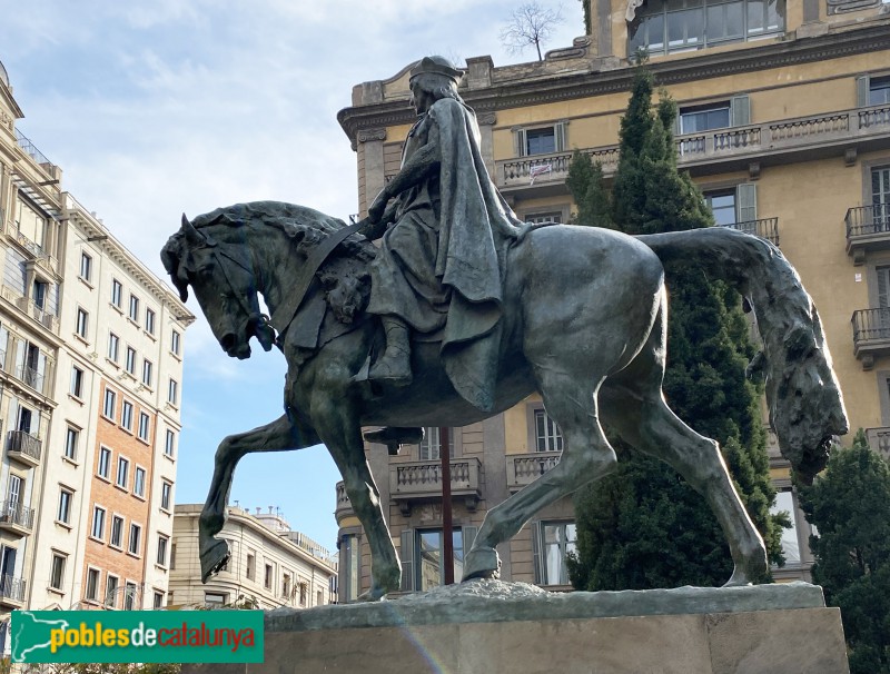
<instances>
[{"instance_id":1,"label":"wavy bronze mane along the horse's neck","mask_svg":"<svg viewBox=\"0 0 890 674\"><path fill-rule=\"evenodd\" d=\"M224 225L275 227L287 236L299 255L307 257L328 235L346 222L322 211L284 201L236 204L198 216L197 229ZM359 234L347 237L316 271L325 299L342 323L353 323L364 313L370 294L368 264L377 254L375 246Z\"/></svg>"}]
</instances>

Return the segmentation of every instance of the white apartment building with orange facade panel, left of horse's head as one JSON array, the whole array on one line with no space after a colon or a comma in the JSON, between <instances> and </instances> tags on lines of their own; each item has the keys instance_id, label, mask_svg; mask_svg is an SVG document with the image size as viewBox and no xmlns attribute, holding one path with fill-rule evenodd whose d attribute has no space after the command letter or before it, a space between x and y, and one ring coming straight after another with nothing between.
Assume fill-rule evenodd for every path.
<instances>
[{"instance_id":1,"label":"white apartment building with orange facade panel, left of horse's head","mask_svg":"<svg viewBox=\"0 0 890 674\"><path fill-rule=\"evenodd\" d=\"M186 328L195 317L66 194L56 423L30 605L166 604Z\"/></svg>"}]
</instances>

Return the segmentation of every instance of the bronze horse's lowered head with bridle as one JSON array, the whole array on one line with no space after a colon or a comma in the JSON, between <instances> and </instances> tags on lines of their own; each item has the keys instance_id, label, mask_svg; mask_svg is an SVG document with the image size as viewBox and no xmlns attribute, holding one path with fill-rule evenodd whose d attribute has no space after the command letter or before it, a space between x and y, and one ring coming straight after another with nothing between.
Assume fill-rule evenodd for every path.
<instances>
[{"instance_id":1,"label":"bronze horse's lowered head with bridle","mask_svg":"<svg viewBox=\"0 0 890 674\"><path fill-rule=\"evenodd\" d=\"M217 236L210 235L211 228ZM241 222L214 211L192 224L184 214L181 228L161 249L161 260L182 301L188 299L191 286L226 354L249 358L251 337L265 350L271 349L275 333L259 310L257 280Z\"/></svg>"}]
</instances>

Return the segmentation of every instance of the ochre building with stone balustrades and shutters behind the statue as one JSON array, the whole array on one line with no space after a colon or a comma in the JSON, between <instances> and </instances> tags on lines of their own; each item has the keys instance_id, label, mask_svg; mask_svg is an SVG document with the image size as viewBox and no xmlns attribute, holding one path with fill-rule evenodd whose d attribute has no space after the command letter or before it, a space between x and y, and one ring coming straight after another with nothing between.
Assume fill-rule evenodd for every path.
<instances>
[{"instance_id":1,"label":"ochre building with stone balustrades and shutters behind the statue","mask_svg":"<svg viewBox=\"0 0 890 674\"><path fill-rule=\"evenodd\" d=\"M613 175L631 57L646 49L680 107L681 170L699 184L718 225L769 238L797 267L820 310L851 428L867 429L872 447L890 454L890 4L591 0L590 12L592 34L542 62L467 59L461 95L476 111L502 194L526 221L568 220L572 152ZM414 122L408 78L406 67L358 85L338 116L357 153L363 211L398 170ZM487 507L555 465L562 439L536 397L452 435L458 557ZM441 576L437 432L427 429L427 438L404 456L367 448L406 561L403 589ZM787 463L774 445L770 453L778 507L795 523L784 538L788 564L774 575L808 578L809 526ZM369 557L337 489L340 598L349 601L369 584ZM572 517L571 504L551 506L501 546L502 577L564 587Z\"/></svg>"}]
</instances>

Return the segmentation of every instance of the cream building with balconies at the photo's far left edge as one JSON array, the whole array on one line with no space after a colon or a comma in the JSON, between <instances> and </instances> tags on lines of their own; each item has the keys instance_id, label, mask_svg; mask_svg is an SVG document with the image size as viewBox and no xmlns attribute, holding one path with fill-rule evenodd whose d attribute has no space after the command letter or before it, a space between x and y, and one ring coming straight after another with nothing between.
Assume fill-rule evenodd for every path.
<instances>
[{"instance_id":1,"label":"cream building with balconies at the photo's far left edge","mask_svg":"<svg viewBox=\"0 0 890 674\"><path fill-rule=\"evenodd\" d=\"M21 117L0 65L0 621L28 605L63 341L61 169L16 129Z\"/></svg>"}]
</instances>

